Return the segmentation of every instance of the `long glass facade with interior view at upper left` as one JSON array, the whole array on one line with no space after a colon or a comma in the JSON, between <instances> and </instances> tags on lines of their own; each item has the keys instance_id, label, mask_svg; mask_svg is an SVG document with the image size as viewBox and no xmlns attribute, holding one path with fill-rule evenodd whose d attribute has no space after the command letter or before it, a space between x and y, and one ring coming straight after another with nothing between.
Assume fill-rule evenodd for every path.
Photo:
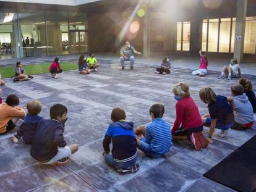
<instances>
[{"instance_id":1,"label":"long glass facade with interior view at upper left","mask_svg":"<svg viewBox=\"0 0 256 192\"><path fill-rule=\"evenodd\" d=\"M0 59L88 52L85 13L0 10Z\"/></svg>"}]
</instances>

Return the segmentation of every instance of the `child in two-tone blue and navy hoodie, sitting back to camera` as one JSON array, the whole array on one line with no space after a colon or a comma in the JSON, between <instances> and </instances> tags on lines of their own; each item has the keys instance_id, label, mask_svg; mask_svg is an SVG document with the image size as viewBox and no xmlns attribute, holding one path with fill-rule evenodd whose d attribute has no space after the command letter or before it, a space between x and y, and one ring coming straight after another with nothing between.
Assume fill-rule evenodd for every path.
<instances>
[{"instance_id":1,"label":"child in two-tone blue and navy hoodie, sitting back to camera","mask_svg":"<svg viewBox=\"0 0 256 192\"><path fill-rule=\"evenodd\" d=\"M107 164L111 165L121 173L135 173L139 170L136 164L137 142L134 135L134 123L126 122L124 109L114 108L111 113L112 123L109 124L103 140L103 157ZM109 153L109 144L113 144L112 154Z\"/></svg>"}]
</instances>

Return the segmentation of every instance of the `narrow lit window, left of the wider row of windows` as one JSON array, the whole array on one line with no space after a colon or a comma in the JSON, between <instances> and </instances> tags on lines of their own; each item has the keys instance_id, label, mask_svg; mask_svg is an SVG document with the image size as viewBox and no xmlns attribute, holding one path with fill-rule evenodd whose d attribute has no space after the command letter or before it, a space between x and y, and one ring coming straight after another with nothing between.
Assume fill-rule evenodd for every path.
<instances>
[{"instance_id":1,"label":"narrow lit window, left of the wider row of windows","mask_svg":"<svg viewBox=\"0 0 256 192\"><path fill-rule=\"evenodd\" d=\"M190 22L177 22L176 50L190 50Z\"/></svg>"}]
</instances>

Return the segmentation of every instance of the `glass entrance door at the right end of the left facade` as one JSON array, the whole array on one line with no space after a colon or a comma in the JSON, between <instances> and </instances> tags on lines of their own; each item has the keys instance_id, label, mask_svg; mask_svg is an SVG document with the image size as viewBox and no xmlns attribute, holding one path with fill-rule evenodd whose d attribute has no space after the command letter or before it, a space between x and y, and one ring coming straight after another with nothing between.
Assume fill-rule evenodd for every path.
<instances>
[{"instance_id":1,"label":"glass entrance door at the right end of the left facade","mask_svg":"<svg viewBox=\"0 0 256 192\"><path fill-rule=\"evenodd\" d=\"M70 54L88 52L87 31L72 30L70 33Z\"/></svg>"}]
</instances>

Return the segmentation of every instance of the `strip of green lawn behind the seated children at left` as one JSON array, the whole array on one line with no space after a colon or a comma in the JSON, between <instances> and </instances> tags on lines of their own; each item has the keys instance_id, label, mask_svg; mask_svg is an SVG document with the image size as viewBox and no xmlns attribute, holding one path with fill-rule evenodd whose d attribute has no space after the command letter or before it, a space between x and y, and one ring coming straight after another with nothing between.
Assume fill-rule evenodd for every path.
<instances>
[{"instance_id":1,"label":"strip of green lawn behind the seated children at left","mask_svg":"<svg viewBox=\"0 0 256 192\"><path fill-rule=\"evenodd\" d=\"M23 67L26 70L27 75L35 75L41 73L49 73L49 63L42 63L42 64L34 64L34 65L26 65L24 64ZM75 70L78 69L78 65L70 62L62 62L61 63L62 70ZM0 67L0 73L2 78L7 77L14 77L14 67Z\"/></svg>"}]
</instances>

